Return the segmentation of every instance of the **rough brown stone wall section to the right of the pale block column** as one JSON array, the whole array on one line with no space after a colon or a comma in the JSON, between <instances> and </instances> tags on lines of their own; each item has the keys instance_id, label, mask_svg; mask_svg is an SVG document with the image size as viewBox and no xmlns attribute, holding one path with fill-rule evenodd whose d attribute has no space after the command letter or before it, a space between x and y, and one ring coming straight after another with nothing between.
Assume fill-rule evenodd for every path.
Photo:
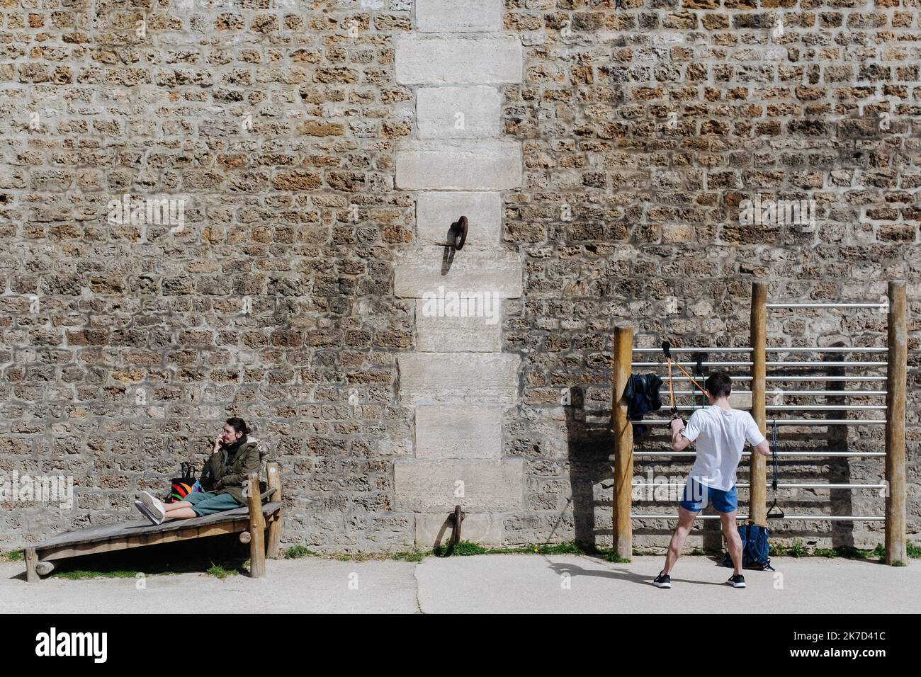
<instances>
[{"instance_id":1,"label":"rough brown stone wall section to the right of the pale block column","mask_svg":"<svg viewBox=\"0 0 921 677\"><path fill-rule=\"evenodd\" d=\"M876 301L886 280L904 278L915 318L909 349L916 349L918 7L910 0L624 0L623 9L613 0L507 3L506 25L526 45L524 82L507 89L505 101L506 131L523 141L525 162L524 188L506 196L504 230L525 270L519 314L505 334L507 349L525 356L520 416L506 440L507 453L528 462L529 509L507 523L517 540L553 531L610 543L611 490L603 487L611 476L607 367L615 324L632 322L638 345L663 338L746 345L753 279L769 281L775 299ZM740 225L741 201L758 193L814 199L817 223ZM773 312L768 336L772 345L884 345L885 315ZM909 361L916 539L914 352ZM572 406L560 406L562 390L571 391ZM880 428L815 432L787 443L880 449ZM688 466L647 461L636 474L649 468L679 475ZM781 472L787 482L872 483L882 464L789 461ZM788 514L881 514L877 493L835 490L834 508L828 491L782 496ZM674 510L643 505L651 514ZM668 526L636 524L635 542L666 544ZM875 544L881 524L777 528L805 542ZM833 532L832 540L822 537Z\"/></svg>"}]
</instances>

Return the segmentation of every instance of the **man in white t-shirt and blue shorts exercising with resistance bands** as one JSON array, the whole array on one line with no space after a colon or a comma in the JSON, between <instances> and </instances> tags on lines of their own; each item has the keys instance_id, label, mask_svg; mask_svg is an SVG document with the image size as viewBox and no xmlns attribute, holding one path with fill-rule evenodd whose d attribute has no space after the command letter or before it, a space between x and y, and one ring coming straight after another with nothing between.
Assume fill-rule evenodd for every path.
<instances>
[{"instance_id":1,"label":"man in white t-shirt and blue shorts exercising with resistance bands","mask_svg":"<svg viewBox=\"0 0 921 677\"><path fill-rule=\"evenodd\" d=\"M733 574L727 583L744 588L742 576L742 542L736 528L736 469L742 457L745 441L762 456L770 454L767 440L758 429L752 414L729 406L732 379L726 372L717 372L706 379L706 400L709 406L691 414L687 426L680 418L671 421L671 449L681 451L696 440L697 459L684 484L678 508L678 526L671 536L665 568L652 581L657 588L670 588L671 567L682 554L684 541L694 526L694 518L707 502L719 513L723 533L732 557Z\"/></svg>"}]
</instances>

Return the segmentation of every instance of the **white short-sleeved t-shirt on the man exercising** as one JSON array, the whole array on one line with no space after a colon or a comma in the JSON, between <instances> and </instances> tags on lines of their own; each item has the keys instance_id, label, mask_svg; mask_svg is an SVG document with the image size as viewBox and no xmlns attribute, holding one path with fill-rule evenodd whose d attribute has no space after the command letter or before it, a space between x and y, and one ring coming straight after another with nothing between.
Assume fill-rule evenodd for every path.
<instances>
[{"instance_id":1,"label":"white short-sleeved t-shirt on the man exercising","mask_svg":"<svg viewBox=\"0 0 921 677\"><path fill-rule=\"evenodd\" d=\"M691 477L722 491L736 485L736 469L745 440L752 447L764 442L752 414L740 409L720 409L715 404L691 414L682 435L697 441L697 460L691 468Z\"/></svg>"}]
</instances>

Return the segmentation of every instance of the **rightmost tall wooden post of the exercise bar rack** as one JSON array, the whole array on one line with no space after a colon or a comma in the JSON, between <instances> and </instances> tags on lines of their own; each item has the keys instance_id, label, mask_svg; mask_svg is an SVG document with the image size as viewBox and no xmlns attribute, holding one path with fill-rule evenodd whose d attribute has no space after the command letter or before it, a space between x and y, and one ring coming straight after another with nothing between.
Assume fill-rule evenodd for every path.
<instances>
[{"instance_id":1,"label":"rightmost tall wooden post of the exercise bar rack","mask_svg":"<svg viewBox=\"0 0 921 677\"><path fill-rule=\"evenodd\" d=\"M886 369L886 564L908 564L905 542L905 388L908 367L904 281L889 283Z\"/></svg>"}]
</instances>

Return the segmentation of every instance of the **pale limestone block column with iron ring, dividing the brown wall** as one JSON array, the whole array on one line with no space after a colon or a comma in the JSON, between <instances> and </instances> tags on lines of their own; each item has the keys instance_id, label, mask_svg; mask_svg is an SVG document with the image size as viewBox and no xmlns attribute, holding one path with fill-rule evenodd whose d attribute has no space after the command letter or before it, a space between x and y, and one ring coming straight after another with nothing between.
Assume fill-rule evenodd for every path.
<instances>
[{"instance_id":1,"label":"pale limestone block column with iron ring, dividing the brown wall","mask_svg":"<svg viewBox=\"0 0 921 677\"><path fill-rule=\"evenodd\" d=\"M416 513L415 541L449 534L503 541L523 508L523 461L503 456L506 407L519 401L519 356L502 352L502 301L521 296L521 261L502 245L501 192L519 188L521 147L502 136L502 92L521 82L517 36L502 0L415 0L414 30L396 43L396 75L415 93L415 136L396 155L398 189L416 192L416 231L394 293L415 299L416 352L398 359L400 399L414 405L414 456L395 463L396 508ZM463 250L449 227L470 223Z\"/></svg>"}]
</instances>

